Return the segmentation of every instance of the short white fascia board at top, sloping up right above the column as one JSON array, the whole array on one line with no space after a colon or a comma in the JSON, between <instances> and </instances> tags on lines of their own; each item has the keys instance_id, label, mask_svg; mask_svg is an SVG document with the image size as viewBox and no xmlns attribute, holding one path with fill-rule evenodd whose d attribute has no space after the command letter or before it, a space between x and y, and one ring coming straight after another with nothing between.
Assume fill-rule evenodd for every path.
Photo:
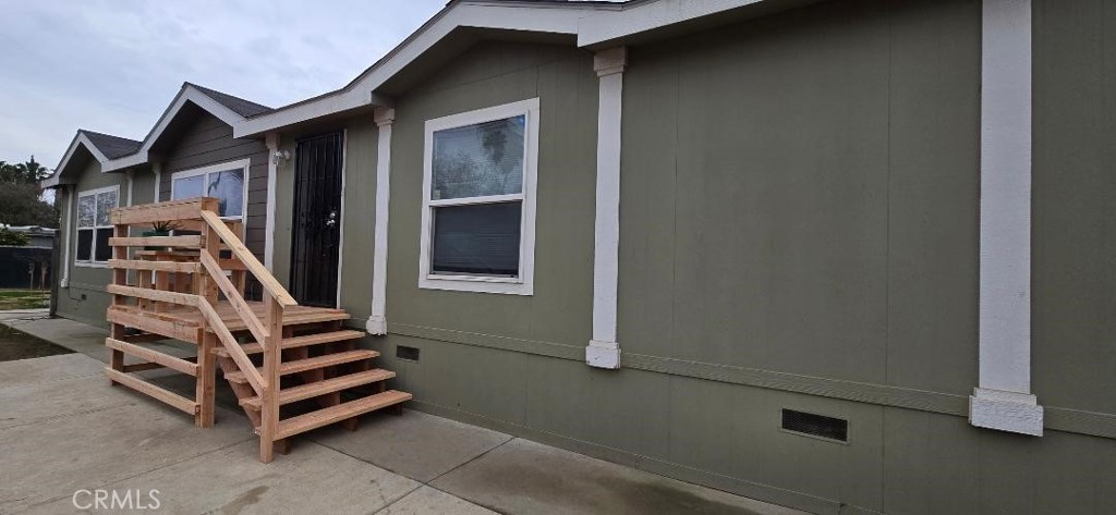
<instances>
[{"instance_id":1,"label":"short white fascia board at top, sloping up right above the column","mask_svg":"<svg viewBox=\"0 0 1116 515\"><path fill-rule=\"evenodd\" d=\"M598 45L764 1L771 0L658 0L637 3L617 12L605 11L583 19L577 31L577 46Z\"/></svg>"}]
</instances>

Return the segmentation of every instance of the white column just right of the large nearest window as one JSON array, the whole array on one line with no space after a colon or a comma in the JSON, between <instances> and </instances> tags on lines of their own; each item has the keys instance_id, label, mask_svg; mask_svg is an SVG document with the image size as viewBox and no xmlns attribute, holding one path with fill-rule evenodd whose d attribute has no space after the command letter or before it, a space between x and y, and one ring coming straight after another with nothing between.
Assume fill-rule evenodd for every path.
<instances>
[{"instance_id":1,"label":"white column just right of the large nearest window","mask_svg":"<svg viewBox=\"0 0 1116 515\"><path fill-rule=\"evenodd\" d=\"M593 252L593 340L585 348L590 367L620 367L616 342L616 295L620 243L620 117L627 48L594 56L600 81L597 113L597 210Z\"/></svg>"}]
</instances>

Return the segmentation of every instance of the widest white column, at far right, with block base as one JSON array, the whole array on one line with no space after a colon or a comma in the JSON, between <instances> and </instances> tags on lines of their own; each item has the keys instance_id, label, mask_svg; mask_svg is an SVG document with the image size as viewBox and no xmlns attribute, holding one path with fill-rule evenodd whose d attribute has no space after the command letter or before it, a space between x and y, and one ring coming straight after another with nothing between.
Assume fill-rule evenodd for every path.
<instances>
[{"instance_id":1,"label":"widest white column, at far right, with block base","mask_svg":"<svg viewBox=\"0 0 1116 515\"><path fill-rule=\"evenodd\" d=\"M980 386L973 426L1042 435L1031 395L1031 2L984 0Z\"/></svg>"}]
</instances>

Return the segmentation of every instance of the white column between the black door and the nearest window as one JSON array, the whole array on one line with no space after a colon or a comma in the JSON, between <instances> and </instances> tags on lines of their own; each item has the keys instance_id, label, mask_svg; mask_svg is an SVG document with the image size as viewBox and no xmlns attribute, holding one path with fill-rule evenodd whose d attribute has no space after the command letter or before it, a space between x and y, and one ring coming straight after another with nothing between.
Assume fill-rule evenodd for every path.
<instances>
[{"instance_id":1,"label":"white column between the black door and the nearest window","mask_svg":"<svg viewBox=\"0 0 1116 515\"><path fill-rule=\"evenodd\" d=\"M377 107L374 115L378 127L376 144L376 222L372 255L372 315L366 329L373 334L387 334L387 214L392 197L392 123L395 109Z\"/></svg>"}]
</instances>

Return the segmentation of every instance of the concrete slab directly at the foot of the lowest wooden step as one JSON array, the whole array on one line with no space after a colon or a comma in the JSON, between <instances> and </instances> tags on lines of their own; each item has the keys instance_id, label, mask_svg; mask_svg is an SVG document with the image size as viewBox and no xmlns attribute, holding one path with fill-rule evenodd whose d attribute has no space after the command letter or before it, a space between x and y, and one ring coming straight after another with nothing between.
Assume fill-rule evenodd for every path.
<instances>
[{"instance_id":1,"label":"concrete slab directly at the foot of the lowest wooden step","mask_svg":"<svg viewBox=\"0 0 1116 515\"><path fill-rule=\"evenodd\" d=\"M371 414L360 430L328 428L309 437L412 479L430 482L511 439L511 436L419 411Z\"/></svg>"}]
</instances>

